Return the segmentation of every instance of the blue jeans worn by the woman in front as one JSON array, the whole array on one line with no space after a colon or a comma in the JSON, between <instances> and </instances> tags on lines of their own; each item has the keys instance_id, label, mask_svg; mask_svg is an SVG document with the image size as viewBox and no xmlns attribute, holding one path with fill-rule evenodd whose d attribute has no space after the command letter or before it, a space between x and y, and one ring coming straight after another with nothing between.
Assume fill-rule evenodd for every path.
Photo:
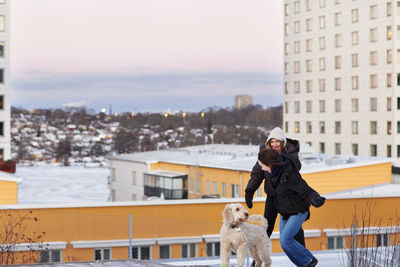
<instances>
[{"instance_id":1,"label":"blue jeans worn by the woman in front","mask_svg":"<svg viewBox=\"0 0 400 267\"><path fill-rule=\"evenodd\" d=\"M307 266L313 258L311 252L293 238L300 230L307 216L308 211L292 215L288 220L283 220L282 215L279 219L279 241L281 242L281 247L289 259L299 267Z\"/></svg>"}]
</instances>

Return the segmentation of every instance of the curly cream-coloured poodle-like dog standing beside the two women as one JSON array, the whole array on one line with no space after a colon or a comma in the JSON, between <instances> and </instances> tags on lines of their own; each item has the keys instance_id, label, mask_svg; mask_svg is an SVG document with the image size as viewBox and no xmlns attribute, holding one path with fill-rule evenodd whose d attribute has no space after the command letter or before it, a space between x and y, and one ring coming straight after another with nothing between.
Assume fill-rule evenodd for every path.
<instances>
[{"instance_id":1,"label":"curly cream-coloured poodle-like dog standing beside the two women","mask_svg":"<svg viewBox=\"0 0 400 267\"><path fill-rule=\"evenodd\" d=\"M241 204L227 204L222 212L223 224L221 226L221 266L229 266L231 251L237 255L237 263L244 266L246 249L256 262L256 267L271 266L271 240L266 229L267 220L262 215L251 215ZM258 222L261 226L247 223Z\"/></svg>"}]
</instances>

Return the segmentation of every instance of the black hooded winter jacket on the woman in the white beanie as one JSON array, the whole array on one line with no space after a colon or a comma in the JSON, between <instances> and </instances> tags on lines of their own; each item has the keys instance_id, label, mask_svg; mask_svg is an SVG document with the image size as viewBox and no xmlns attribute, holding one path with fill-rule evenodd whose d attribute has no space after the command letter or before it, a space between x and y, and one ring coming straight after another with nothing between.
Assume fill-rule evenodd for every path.
<instances>
[{"instance_id":1,"label":"black hooded winter jacket on the woman in the white beanie","mask_svg":"<svg viewBox=\"0 0 400 267\"><path fill-rule=\"evenodd\" d=\"M265 144L260 146L260 151L265 149ZM286 146L284 147L282 154L287 158L290 158L297 170L300 170L301 163L299 160L300 144L299 141L286 138ZM272 197L275 195L275 191L271 184L271 174L269 172L263 171L261 166L256 162L253 169L251 170L250 180L246 186L246 194L254 195L254 192L260 187L261 183L264 181L264 192Z\"/></svg>"}]
</instances>

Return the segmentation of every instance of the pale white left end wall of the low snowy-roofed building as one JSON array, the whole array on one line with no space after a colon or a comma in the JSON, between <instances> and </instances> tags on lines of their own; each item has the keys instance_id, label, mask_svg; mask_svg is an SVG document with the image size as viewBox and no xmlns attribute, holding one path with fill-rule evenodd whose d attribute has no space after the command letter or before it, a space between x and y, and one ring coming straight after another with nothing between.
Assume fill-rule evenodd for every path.
<instances>
[{"instance_id":1,"label":"pale white left end wall of the low snowy-roofed building","mask_svg":"<svg viewBox=\"0 0 400 267\"><path fill-rule=\"evenodd\" d=\"M146 163L110 159L109 168L111 172L110 195L112 198L112 192L115 192L115 198L112 201L144 199L143 173L148 171ZM133 182L133 172L136 173L136 184Z\"/></svg>"}]
</instances>

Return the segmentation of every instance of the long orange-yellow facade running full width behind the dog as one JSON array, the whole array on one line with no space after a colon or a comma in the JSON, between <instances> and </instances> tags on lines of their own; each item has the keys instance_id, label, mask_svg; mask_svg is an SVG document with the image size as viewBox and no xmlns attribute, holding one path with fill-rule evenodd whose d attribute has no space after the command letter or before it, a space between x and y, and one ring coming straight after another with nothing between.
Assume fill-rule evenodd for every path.
<instances>
[{"instance_id":1,"label":"long orange-yellow facade running full width behind the dog","mask_svg":"<svg viewBox=\"0 0 400 267\"><path fill-rule=\"evenodd\" d=\"M385 186L394 186L391 190L400 189L399 185ZM399 241L400 230L396 223L400 218L395 217L400 207L399 193L372 198L354 195L346 198L335 194L326 195L327 201L323 207L311 208L311 218L303 225L310 250L324 250L329 246L340 248L338 242L343 242L348 247L351 225L354 221L361 225L362 214L368 210L371 211L367 212L370 225L366 226L371 230L371 237L388 234L389 240L393 242L391 244ZM353 193L347 194L351 196ZM219 242L224 206L236 202L243 204L243 199L136 201L92 205L7 205L0 207L0 216L19 218L29 214L29 218L34 219L26 221L25 235L43 233L40 240L35 241L37 254L40 254L40 250L52 253L56 251L62 262L70 262L95 260L96 253L100 256L105 253L109 255L109 259L127 259L131 215L131 244L135 251L144 248L152 260L176 259L185 255L213 256L212 251ZM250 214L263 214L263 211L264 198L256 198ZM1 229L4 229L4 225ZM279 229L278 225L276 229ZM273 252L282 252L278 238L279 233L274 232ZM332 240L337 247L332 247ZM374 242L372 245L375 245ZM17 244L16 247L22 252L28 250L27 244ZM187 251L187 248L193 248L194 254ZM214 256L218 256L217 253Z\"/></svg>"}]
</instances>

